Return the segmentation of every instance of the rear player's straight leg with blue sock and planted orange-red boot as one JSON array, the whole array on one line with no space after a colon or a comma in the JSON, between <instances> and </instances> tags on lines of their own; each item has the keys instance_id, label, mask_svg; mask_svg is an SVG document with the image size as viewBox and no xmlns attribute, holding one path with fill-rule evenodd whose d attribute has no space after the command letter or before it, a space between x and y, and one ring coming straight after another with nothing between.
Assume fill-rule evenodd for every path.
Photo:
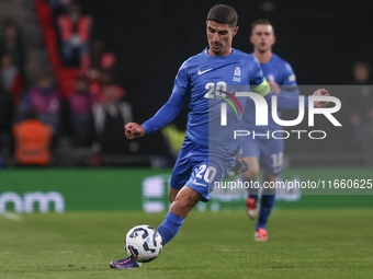
<instances>
[{"instance_id":1,"label":"rear player's straight leg with blue sock and planted orange-red boot","mask_svg":"<svg viewBox=\"0 0 373 279\"><path fill-rule=\"evenodd\" d=\"M274 201L275 201L275 182L276 176L272 174L267 174L263 172L262 175L263 190L260 197L260 207L259 207L259 218L256 225L255 240L256 241L267 241L267 221L272 212Z\"/></svg>"}]
</instances>

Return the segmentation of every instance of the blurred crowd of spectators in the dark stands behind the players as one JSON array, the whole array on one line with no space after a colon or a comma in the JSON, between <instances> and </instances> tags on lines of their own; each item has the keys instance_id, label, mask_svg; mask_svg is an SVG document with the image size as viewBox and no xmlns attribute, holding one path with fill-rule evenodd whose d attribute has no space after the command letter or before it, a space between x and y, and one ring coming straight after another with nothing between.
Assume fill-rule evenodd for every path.
<instances>
[{"instance_id":1,"label":"blurred crowd of spectators in the dark stands behind the players","mask_svg":"<svg viewBox=\"0 0 373 279\"><path fill-rule=\"evenodd\" d=\"M91 39L94 19L72 0L43 0L50 8L64 67L78 69L74 86L60 90L64 79L41 72L36 82L25 73L25 46L20 27L5 22L0 39L0 167L8 165L147 164L154 153L143 139L128 141L123 126L133 120L125 90L117 85L116 56L105 42ZM366 61L352 67L350 84L361 85L350 100L350 123L357 150L373 165L373 91ZM66 86L65 86L66 89ZM188 112L183 114L185 116ZM185 118L185 117L184 117ZM162 130L154 141L158 158L151 165L170 166L178 155L185 120ZM165 141L166 139L166 141ZM165 149L163 143L168 143ZM166 144L166 143L165 143ZM165 151L166 150L166 151ZM157 152L156 151L156 152ZM134 159L136 158L136 159ZM150 160L151 161L151 160Z\"/></svg>"}]
</instances>

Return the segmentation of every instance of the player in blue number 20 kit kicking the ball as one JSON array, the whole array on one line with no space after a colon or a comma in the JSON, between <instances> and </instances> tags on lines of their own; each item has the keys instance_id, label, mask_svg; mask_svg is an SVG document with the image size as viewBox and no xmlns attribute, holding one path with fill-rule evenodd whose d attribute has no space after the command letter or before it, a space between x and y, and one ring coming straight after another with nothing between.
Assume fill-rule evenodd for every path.
<instances>
[{"instance_id":1,"label":"player in blue number 20 kit kicking the ball","mask_svg":"<svg viewBox=\"0 0 373 279\"><path fill-rule=\"evenodd\" d=\"M236 98L245 108L247 97L236 94L242 84L249 85L249 89L251 85L251 92L263 96L269 105L274 95L270 92L258 60L231 47L233 37L238 31L237 20L231 7L214 5L206 21L208 46L180 67L168 102L143 125L128 123L124 127L128 139L154 132L170 123L180 112L187 96L191 97L187 136L170 181L171 206L157 229L163 245L174 237L200 200L208 201L214 183L222 181L235 165L240 140L234 138L234 131L240 128L242 116L227 106L226 120L229 125L222 126L221 104L225 102L224 98ZM327 91L324 94L328 94ZM321 107L325 103L315 102L314 106ZM297 109L298 98L280 96L278 106ZM110 264L111 268L120 269L139 266L140 263L135 261L133 256Z\"/></svg>"}]
</instances>

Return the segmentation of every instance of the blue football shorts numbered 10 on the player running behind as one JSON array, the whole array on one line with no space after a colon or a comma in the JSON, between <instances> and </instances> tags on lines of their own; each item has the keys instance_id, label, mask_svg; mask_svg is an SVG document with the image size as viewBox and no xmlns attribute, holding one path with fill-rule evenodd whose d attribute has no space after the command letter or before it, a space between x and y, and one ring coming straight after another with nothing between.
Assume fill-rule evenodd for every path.
<instances>
[{"instance_id":1,"label":"blue football shorts numbered 10 on the player running behind","mask_svg":"<svg viewBox=\"0 0 373 279\"><path fill-rule=\"evenodd\" d=\"M282 139L267 139L248 136L241 141L241 158L255 156L259 160L260 168L270 175L282 172L284 141ZM250 167L250 166L249 166Z\"/></svg>"}]
</instances>

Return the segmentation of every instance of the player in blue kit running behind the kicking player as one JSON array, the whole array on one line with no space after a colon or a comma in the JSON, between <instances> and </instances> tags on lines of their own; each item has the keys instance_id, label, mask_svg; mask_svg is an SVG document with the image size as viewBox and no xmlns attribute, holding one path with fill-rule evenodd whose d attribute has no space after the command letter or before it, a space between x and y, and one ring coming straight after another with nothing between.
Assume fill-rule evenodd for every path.
<instances>
[{"instance_id":1,"label":"player in blue kit running behind the kicking player","mask_svg":"<svg viewBox=\"0 0 373 279\"><path fill-rule=\"evenodd\" d=\"M271 91L275 94L297 97L299 91L292 67L272 53L275 36L273 26L268 20L259 20L251 24L250 42L253 45L252 55L258 59L264 77L269 80ZM245 137L241 142L241 156L250 166L247 172L242 173L242 177L246 182L255 182L261 168L262 183L275 183L276 176L282 171L284 140L271 138L271 135L275 130L282 130L282 127L274 123L271 113L268 116L268 126L256 126L256 108L252 100L249 100L246 106L247 114L244 116L244 121L260 136ZM281 112L278 112L278 115L281 117ZM246 201L248 216L252 220L258 216L258 188L249 189ZM268 240L267 221L273 209L274 200L275 188L263 188L255 230L256 241Z\"/></svg>"}]
</instances>

